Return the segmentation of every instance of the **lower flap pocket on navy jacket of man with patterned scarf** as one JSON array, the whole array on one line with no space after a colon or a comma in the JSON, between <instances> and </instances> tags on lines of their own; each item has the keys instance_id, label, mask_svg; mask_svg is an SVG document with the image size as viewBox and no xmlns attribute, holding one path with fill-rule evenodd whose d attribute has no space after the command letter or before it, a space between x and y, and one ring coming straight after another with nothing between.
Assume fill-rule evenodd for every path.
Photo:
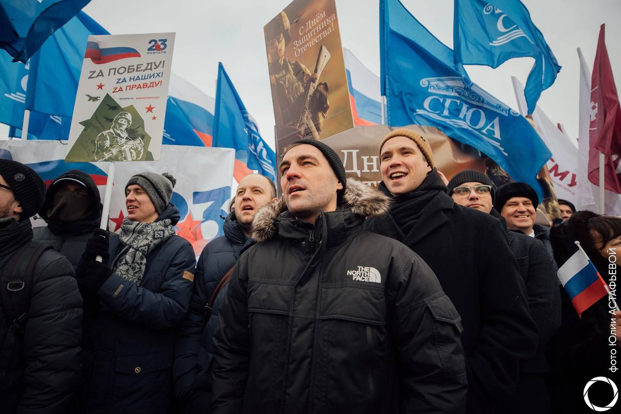
<instances>
[{"instance_id":1,"label":"lower flap pocket on navy jacket of man with patterned scarf","mask_svg":"<svg viewBox=\"0 0 621 414\"><path fill-rule=\"evenodd\" d=\"M171 392L170 352L117 356L115 407L129 412L166 412Z\"/></svg>"}]
</instances>

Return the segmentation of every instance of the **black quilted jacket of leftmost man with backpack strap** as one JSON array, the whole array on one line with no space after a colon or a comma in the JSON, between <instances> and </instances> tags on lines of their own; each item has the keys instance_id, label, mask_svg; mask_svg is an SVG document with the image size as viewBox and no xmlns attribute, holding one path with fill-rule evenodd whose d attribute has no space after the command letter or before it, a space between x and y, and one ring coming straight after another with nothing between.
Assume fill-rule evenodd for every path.
<instances>
[{"instance_id":1,"label":"black quilted jacket of leftmost man with backpack strap","mask_svg":"<svg viewBox=\"0 0 621 414\"><path fill-rule=\"evenodd\" d=\"M0 235L0 271L17 249L30 242L32 229L29 232L27 241L19 244L4 243ZM12 349L19 344L6 343L15 336L7 336L12 321L6 320L2 309L0 306L0 349ZM23 352L19 352L24 359L14 361L10 372L0 370L0 412L68 412L79 384L81 334L82 298L73 266L58 252L47 250L39 257L32 278Z\"/></svg>"}]
</instances>

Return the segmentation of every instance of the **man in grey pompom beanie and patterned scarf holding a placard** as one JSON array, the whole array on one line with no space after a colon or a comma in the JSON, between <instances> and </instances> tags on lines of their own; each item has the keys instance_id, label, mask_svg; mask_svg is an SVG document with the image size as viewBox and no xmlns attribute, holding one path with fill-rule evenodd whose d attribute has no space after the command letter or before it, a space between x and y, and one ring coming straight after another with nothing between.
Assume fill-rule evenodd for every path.
<instances>
[{"instance_id":1,"label":"man in grey pompom beanie and patterned scarf holding a placard","mask_svg":"<svg viewBox=\"0 0 621 414\"><path fill-rule=\"evenodd\" d=\"M188 311L195 263L192 246L173 229L175 182L167 173L134 175L120 234L108 239L97 229L86 243L76 269L88 321L81 412L167 412L176 328Z\"/></svg>"}]
</instances>

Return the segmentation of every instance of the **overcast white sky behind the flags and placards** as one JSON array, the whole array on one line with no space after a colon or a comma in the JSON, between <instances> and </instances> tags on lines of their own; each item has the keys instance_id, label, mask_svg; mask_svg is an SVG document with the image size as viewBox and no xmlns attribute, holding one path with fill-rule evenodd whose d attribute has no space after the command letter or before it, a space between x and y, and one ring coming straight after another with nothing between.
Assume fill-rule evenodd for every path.
<instances>
[{"instance_id":1,"label":"overcast white sky behind the flags and placards","mask_svg":"<svg viewBox=\"0 0 621 414\"><path fill-rule=\"evenodd\" d=\"M453 47L453 0L402 0L409 11ZM599 26L621 88L621 1L522 0L563 67L543 91L539 106L572 137L578 136L579 62L582 49L592 68ZM379 75L378 0L336 0L341 40ZM273 145L274 116L263 39L263 25L288 2L280 0L93 0L84 8L112 34L176 32L173 71L215 96L217 64L222 62L265 140ZM524 84L532 58L505 62L497 69L468 67L471 80L517 109L510 76ZM6 132L0 131L6 136Z\"/></svg>"}]
</instances>

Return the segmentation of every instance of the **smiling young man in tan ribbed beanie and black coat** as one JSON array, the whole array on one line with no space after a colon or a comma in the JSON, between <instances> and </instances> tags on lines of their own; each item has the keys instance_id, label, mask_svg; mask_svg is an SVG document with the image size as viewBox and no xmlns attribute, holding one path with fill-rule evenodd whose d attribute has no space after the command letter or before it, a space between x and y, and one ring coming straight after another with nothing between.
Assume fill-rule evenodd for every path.
<instances>
[{"instance_id":1,"label":"smiling young man in tan ribbed beanie and black coat","mask_svg":"<svg viewBox=\"0 0 621 414\"><path fill-rule=\"evenodd\" d=\"M520 360L537 349L537 326L502 225L446 194L429 142L418 132L391 131L379 160L379 189L392 205L366 227L402 241L437 275L465 328L468 412L493 410L514 392Z\"/></svg>"}]
</instances>

